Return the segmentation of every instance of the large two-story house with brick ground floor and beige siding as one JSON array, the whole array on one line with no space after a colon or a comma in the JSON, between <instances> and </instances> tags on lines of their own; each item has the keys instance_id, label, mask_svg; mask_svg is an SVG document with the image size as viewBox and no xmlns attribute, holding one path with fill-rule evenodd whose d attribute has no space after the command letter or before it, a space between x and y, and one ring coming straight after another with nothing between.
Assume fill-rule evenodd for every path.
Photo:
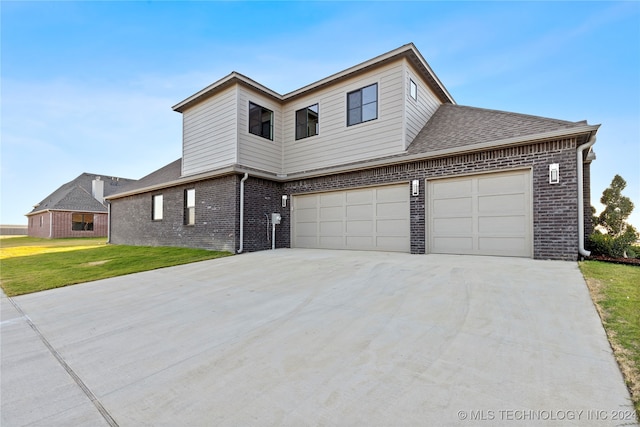
<instances>
[{"instance_id":1,"label":"large two-story house with brick ground floor and beige siding","mask_svg":"<svg viewBox=\"0 0 640 427\"><path fill-rule=\"evenodd\" d=\"M173 109L182 158L107 198L112 243L586 253L599 126L456 105L413 44L286 95L232 72Z\"/></svg>"}]
</instances>

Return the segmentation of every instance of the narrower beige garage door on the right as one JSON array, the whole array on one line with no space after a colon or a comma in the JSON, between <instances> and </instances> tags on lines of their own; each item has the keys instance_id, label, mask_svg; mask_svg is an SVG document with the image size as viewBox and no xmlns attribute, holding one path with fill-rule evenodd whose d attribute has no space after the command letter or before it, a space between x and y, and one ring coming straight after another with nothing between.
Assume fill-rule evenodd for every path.
<instances>
[{"instance_id":1,"label":"narrower beige garage door on the right","mask_svg":"<svg viewBox=\"0 0 640 427\"><path fill-rule=\"evenodd\" d=\"M429 251L532 257L531 172L427 181Z\"/></svg>"}]
</instances>

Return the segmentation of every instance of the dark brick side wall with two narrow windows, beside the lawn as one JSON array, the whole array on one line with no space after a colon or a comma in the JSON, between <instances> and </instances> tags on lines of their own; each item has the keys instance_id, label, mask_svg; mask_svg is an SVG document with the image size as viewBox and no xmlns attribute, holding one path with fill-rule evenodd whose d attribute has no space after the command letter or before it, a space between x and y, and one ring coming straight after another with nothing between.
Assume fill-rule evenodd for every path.
<instances>
[{"instance_id":1,"label":"dark brick side wall with two narrow windows, beside the lawn","mask_svg":"<svg viewBox=\"0 0 640 427\"><path fill-rule=\"evenodd\" d=\"M184 224L184 191L196 192L195 225ZM111 201L111 243L237 249L239 177L225 176ZM152 196L163 196L163 219L151 218Z\"/></svg>"}]
</instances>

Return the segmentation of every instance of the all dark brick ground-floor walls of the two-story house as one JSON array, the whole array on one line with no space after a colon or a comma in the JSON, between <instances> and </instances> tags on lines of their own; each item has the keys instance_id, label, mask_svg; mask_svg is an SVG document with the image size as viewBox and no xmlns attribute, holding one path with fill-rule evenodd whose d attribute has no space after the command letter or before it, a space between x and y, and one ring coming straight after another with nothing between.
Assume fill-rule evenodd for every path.
<instances>
[{"instance_id":1,"label":"all dark brick ground-floor walls of the two-story house","mask_svg":"<svg viewBox=\"0 0 640 427\"><path fill-rule=\"evenodd\" d=\"M278 183L250 177L245 182L244 251L271 248L271 213L282 215L276 247L291 242L291 198L296 194L344 190L420 180L410 198L411 253L426 251L425 179L527 168L532 171L533 256L578 258L578 203L575 139L421 160L394 166ZM549 184L549 164L560 164L560 183ZM239 248L240 175L208 179L112 201L111 242L132 245L188 246L235 251ZM585 229L590 227L589 165L585 164ZM183 225L184 190L196 189L196 225ZM409 188L407 186L407 191ZM151 197L163 194L164 219L151 220ZM282 207L282 195L288 195ZM589 225L587 225L589 224ZM588 235L588 234L587 234Z\"/></svg>"}]
</instances>

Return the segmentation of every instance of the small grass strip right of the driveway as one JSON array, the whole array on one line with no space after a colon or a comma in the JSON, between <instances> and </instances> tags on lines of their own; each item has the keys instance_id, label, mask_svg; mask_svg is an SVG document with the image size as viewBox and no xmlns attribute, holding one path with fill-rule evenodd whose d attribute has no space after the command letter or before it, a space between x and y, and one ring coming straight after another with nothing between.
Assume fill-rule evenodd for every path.
<instances>
[{"instance_id":1,"label":"small grass strip right of the driveway","mask_svg":"<svg viewBox=\"0 0 640 427\"><path fill-rule=\"evenodd\" d=\"M640 419L640 267L583 261L580 270Z\"/></svg>"}]
</instances>

